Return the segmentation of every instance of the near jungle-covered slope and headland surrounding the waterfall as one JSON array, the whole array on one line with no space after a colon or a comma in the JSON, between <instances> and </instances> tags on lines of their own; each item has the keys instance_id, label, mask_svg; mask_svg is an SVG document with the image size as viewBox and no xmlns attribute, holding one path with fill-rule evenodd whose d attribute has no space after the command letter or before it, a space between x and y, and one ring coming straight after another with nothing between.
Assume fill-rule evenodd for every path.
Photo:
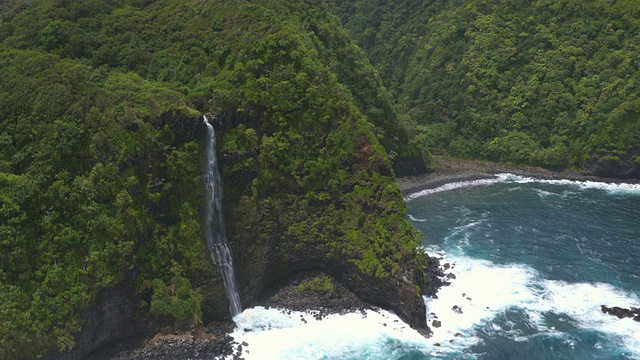
<instances>
[{"instance_id":1,"label":"near jungle-covered slope and headland surrounding the waterfall","mask_svg":"<svg viewBox=\"0 0 640 360\"><path fill-rule=\"evenodd\" d=\"M114 293L125 320L228 316L201 227L209 112L244 305L321 270L425 326L395 172L426 157L323 2L3 1L0 16L1 358L126 336L87 329Z\"/></svg>"}]
</instances>

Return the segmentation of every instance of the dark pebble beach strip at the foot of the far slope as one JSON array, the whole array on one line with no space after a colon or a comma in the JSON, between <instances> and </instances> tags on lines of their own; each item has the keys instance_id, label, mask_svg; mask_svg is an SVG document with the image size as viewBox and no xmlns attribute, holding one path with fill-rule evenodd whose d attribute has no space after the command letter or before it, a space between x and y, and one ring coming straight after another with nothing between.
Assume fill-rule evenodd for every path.
<instances>
[{"instance_id":1,"label":"dark pebble beach strip at the foot of the far slope","mask_svg":"<svg viewBox=\"0 0 640 360\"><path fill-rule=\"evenodd\" d=\"M553 171L535 166L499 164L480 160L463 160L436 157L436 167L432 172L397 178L403 197L434 189L449 183L493 179L496 174L510 173L544 180L595 181L604 183L640 183L640 179L619 179L582 174L576 171Z\"/></svg>"}]
</instances>

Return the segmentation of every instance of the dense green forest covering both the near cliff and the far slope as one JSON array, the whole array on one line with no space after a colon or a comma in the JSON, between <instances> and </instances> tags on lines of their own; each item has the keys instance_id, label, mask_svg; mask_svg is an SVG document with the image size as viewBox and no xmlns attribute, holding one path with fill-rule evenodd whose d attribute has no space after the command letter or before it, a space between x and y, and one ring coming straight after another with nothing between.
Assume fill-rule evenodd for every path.
<instances>
[{"instance_id":1,"label":"dense green forest covering both the near cliff and the far slope","mask_svg":"<svg viewBox=\"0 0 640 360\"><path fill-rule=\"evenodd\" d=\"M640 169L638 53L631 0L2 0L0 358L77 348L110 289L140 322L228 316L205 113L243 302L321 270L424 317L395 177Z\"/></svg>"}]
</instances>

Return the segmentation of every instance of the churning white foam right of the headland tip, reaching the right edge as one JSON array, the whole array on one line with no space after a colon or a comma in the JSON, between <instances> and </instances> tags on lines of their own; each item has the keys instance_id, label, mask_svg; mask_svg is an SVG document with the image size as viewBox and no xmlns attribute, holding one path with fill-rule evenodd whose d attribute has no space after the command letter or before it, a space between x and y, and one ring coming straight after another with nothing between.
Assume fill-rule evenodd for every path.
<instances>
[{"instance_id":1,"label":"churning white foam right of the headland tip, reaching the right edge","mask_svg":"<svg viewBox=\"0 0 640 360\"><path fill-rule=\"evenodd\" d=\"M427 252L433 250L431 247ZM428 313L435 314L429 315L428 320L435 341L444 343L455 334L462 334L462 338L456 338L456 345L469 346L481 341L475 335L479 328L515 341L526 341L536 336L566 337L548 321L548 316L555 314L557 321L606 333L608 338L616 339L620 346L640 358L638 323L632 319L617 319L600 311L603 304L638 306L640 299L637 295L604 283L570 284L541 279L540 274L528 266L496 265L465 255L447 254L440 262L455 264L452 272L456 278L450 286L440 289L437 299L428 300ZM452 310L454 305L462 309L462 314ZM497 317L508 310L522 313L522 322L535 331L523 332L523 325L518 327L509 322L496 323ZM436 319L442 323L439 328L433 326ZM574 341L568 337L565 340ZM571 344L567 343L567 346Z\"/></svg>"}]
</instances>

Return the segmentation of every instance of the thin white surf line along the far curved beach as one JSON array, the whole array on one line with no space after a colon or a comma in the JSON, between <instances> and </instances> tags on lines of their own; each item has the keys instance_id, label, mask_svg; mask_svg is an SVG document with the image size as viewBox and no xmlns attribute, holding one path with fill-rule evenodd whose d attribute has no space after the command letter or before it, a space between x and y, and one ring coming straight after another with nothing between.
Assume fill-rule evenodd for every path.
<instances>
[{"instance_id":1,"label":"thin white surf line along the far curved beach","mask_svg":"<svg viewBox=\"0 0 640 360\"><path fill-rule=\"evenodd\" d=\"M422 191L418 191L418 192L407 195L405 197L405 201L417 199L423 196L427 196L427 195L442 192L442 191L449 191L449 190L455 190L455 189L466 188L466 187L474 187L474 186L482 186L482 185L492 185L492 184L502 183L502 182L515 182L515 183L521 183L521 184L537 182L537 183L543 183L543 184L570 185L570 186L578 187L580 189L605 190L610 194L640 195L640 184L606 183L606 182L598 182L598 181L576 181L576 180L568 180L568 179L536 179L532 177L520 176L520 175L515 175L510 173L501 173L501 174L496 174L495 178L451 182L451 183L447 183L432 189L425 189ZM551 194L552 193L539 193L539 195L551 195Z\"/></svg>"}]
</instances>

